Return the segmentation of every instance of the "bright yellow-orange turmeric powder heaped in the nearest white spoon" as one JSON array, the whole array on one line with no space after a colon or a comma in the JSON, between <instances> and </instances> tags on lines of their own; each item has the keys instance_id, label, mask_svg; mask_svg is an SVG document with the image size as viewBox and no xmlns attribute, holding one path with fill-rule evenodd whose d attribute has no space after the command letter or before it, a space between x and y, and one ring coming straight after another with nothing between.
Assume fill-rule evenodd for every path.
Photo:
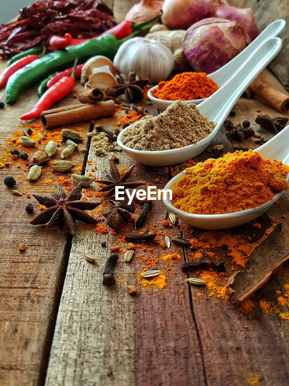
<instances>
[{"instance_id":1,"label":"bright yellow-orange turmeric powder heaped in the nearest white spoon","mask_svg":"<svg viewBox=\"0 0 289 386\"><path fill-rule=\"evenodd\" d=\"M171 187L173 205L188 213L221 214L259 207L288 188L289 166L258 152L236 151L185 170Z\"/></svg>"}]
</instances>

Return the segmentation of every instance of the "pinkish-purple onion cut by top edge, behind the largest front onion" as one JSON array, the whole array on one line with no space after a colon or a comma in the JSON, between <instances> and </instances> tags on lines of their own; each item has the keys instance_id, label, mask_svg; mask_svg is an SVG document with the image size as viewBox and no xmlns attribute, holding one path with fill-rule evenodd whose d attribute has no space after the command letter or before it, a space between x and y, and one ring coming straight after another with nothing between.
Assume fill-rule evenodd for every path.
<instances>
[{"instance_id":1,"label":"pinkish-purple onion cut by top edge, behind the largest front onion","mask_svg":"<svg viewBox=\"0 0 289 386\"><path fill-rule=\"evenodd\" d=\"M226 0L165 0L161 22L170 29L187 29Z\"/></svg>"}]
</instances>

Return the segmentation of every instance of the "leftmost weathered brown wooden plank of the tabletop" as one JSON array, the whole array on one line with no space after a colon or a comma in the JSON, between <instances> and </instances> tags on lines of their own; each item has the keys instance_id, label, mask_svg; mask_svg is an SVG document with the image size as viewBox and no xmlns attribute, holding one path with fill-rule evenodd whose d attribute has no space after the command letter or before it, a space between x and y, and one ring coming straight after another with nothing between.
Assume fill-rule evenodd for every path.
<instances>
[{"instance_id":1,"label":"leftmost weathered brown wooden plank of the tabletop","mask_svg":"<svg viewBox=\"0 0 289 386\"><path fill-rule=\"evenodd\" d=\"M0 63L0 71L3 68L4 61ZM72 95L62 105L75 103ZM3 91L1 100L5 100ZM36 88L33 88L16 105L1 110L1 162L11 162L10 149L20 149L17 144L7 147L5 138L13 137L13 132L20 129L19 117L29 111L36 101ZM87 132L89 122L80 127L84 129L82 133ZM43 149L45 143L47 140L44 137L42 144L37 144L37 149ZM84 146L86 142L80 148ZM29 160L33 152L29 153ZM73 162L81 163L83 154L76 154ZM59 158L59 154L54 158ZM49 173L50 166L43 169L48 172L35 182L26 179L27 167L20 161L11 162L7 170L0 169L0 384L5 386L36 385L37 379L39 384L43 381L70 251L71 238L66 229L32 227L29 221L39 209L36 206L32 215L25 212L29 202L33 205L37 203L32 193L52 195L55 191L57 174ZM23 196L12 195L10 190L13 188L3 184L7 175L13 175L17 180L14 189L27 191L31 198L26 193ZM44 184L44 179L52 179L53 183ZM24 252L18 251L22 241L26 244Z\"/></svg>"}]
</instances>

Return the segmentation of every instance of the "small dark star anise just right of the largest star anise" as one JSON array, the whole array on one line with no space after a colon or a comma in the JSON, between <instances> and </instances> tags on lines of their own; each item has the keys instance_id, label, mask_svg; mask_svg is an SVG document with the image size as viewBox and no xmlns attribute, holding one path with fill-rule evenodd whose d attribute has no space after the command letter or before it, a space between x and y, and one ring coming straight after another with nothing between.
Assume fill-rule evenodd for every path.
<instances>
[{"instance_id":1,"label":"small dark star anise just right of the largest star anise","mask_svg":"<svg viewBox=\"0 0 289 386\"><path fill-rule=\"evenodd\" d=\"M116 204L114 201L108 200L109 205L113 207L112 210L104 214L106 217L106 224L113 229L121 229L124 224L128 223L134 212L134 204L129 205L129 200L125 199Z\"/></svg>"}]
</instances>

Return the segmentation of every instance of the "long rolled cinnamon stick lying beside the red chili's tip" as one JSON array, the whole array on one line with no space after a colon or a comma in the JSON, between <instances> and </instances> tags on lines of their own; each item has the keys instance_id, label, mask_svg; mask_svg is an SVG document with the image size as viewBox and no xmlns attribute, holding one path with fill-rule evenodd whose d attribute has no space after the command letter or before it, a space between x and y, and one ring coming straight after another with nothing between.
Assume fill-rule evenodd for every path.
<instances>
[{"instance_id":1,"label":"long rolled cinnamon stick lying beside the red chili's tip","mask_svg":"<svg viewBox=\"0 0 289 386\"><path fill-rule=\"evenodd\" d=\"M91 119L109 117L116 111L113 100L92 104L73 105L42 112L41 119L45 129L73 124Z\"/></svg>"}]
</instances>

